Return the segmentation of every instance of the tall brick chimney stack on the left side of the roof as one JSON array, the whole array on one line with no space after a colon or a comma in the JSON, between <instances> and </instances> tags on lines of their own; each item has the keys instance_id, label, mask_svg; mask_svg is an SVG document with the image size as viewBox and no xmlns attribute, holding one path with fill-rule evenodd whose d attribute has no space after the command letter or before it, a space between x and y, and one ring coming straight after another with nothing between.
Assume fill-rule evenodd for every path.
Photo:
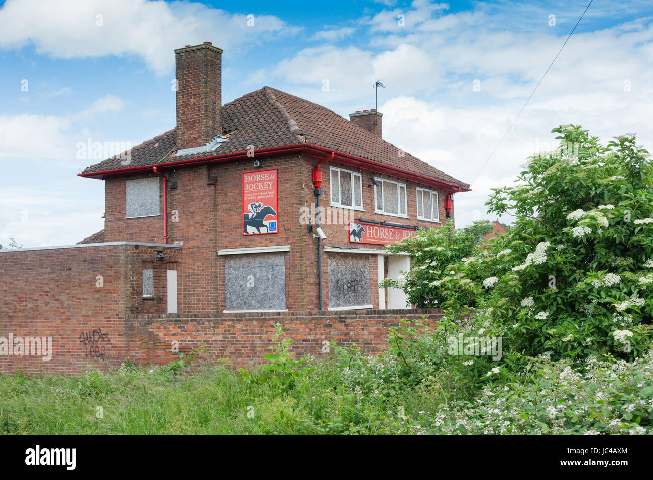
<instances>
[{"instance_id":1,"label":"tall brick chimney stack on the left side of the roof","mask_svg":"<svg viewBox=\"0 0 653 480\"><path fill-rule=\"evenodd\" d=\"M222 50L211 42L174 51L177 148L206 145L222 133Z\"/></svg>"}]
</instances>

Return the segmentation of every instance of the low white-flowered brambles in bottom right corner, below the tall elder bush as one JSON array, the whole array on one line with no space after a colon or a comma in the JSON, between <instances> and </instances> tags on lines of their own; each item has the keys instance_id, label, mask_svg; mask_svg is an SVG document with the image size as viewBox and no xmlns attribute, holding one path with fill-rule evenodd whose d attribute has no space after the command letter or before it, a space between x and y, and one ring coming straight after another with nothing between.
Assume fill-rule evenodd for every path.
<instances>
[{"instance_id":1,"label":"low white-flowered brambles in bottom right corner, below the tall elder bush","mask_svg":"<svg viewBox=\"0 0 653 480\"><path fill-rule=\"evenodd\" d=\"M653 351L633 362L531 359L522 372L428 418L432 434L653 435Z\"/></svg>"}]
</instances>

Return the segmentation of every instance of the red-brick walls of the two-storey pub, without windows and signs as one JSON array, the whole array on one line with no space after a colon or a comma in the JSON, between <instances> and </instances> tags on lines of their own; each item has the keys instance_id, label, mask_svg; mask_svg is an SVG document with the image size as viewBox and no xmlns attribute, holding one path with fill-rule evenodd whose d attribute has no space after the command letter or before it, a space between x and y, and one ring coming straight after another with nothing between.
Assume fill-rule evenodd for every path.
<instances>
[{"instance_id":1,"label":"red-brick walls of the two-storey pub, without windows and signs","mask_svg":"<svg viewBox=\"0 0 653 480\"><path fill-rule=\"evenodd\" d=\"M189 314L213 314L225 310L225 260L218 257L218 249L252 248L290 245L285 253L286 306L291 311L319 310L319 282L317 280L317 240L308 233L307 225L300 223L302 208L311 211L317 204L313 194L312 169L317 159L306 155L283 157L257 157L260 167L252 161L238 161L218 165L164 170L168 176L168 236L169 243L183 241L182 261L178 266L179 311ZM438 227L445 221L444 199L446 192L438 191L439 223L417 220L416 188L414 182L378 176L406 184L408 218L374 213L374 187L368 188L374 172L358 170L338 163L323 163L325 172L321 206L330 206L329 167L342 167L362 174L363 210L352 210L353 218L389 221L401 225ZM267 235L242 235L242 174L255 170L278 169L279 233ZM143 178L154 176L146 174ZM212 181L212 179L216 179ZM163 242L163 181L159 189L161 215L125 219L125 177L105 181L106 211L105 240L107 242ZM349 210L343 210L348 213ZM176 219L177 221L174 221ZM328 240L323 245L348 247L349 231L345 225L323 223ZM362 248L380 245L357 244ZM324 308L328 308L327 256L337 253L323 252ZM375 255L370 257L370 284L372 305L379 306L378 272Z\"/></svg>"}]
</instances>

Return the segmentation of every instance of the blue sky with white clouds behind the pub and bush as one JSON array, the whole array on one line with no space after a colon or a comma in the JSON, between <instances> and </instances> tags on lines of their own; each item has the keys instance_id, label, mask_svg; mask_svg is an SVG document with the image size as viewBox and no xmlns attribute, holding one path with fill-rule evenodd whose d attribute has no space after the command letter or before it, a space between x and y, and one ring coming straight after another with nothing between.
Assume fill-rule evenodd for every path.
<instances>
[{"instance_id":1,"label":"blue sky with white clouds behind the pub and bush","mask_svg":"<svg viewBox=\"0 0 653 480\"><path fill-rule=\"evenodd\" d=\"M347 118L374 108L379 78L384 137L471 182L586 5L0 1L0 244L102 229L103 182L76 176L98 160L78 159L78 142L136 145L173 128L173 50L205 40L224 50L225 103L268 85ZM489 189L552 146L559 123L605 140L635 132L650 150L652 103L652 3L594 0L473 192L456 195L457 225L494 220Z\"/></svg>"}]
</instances>

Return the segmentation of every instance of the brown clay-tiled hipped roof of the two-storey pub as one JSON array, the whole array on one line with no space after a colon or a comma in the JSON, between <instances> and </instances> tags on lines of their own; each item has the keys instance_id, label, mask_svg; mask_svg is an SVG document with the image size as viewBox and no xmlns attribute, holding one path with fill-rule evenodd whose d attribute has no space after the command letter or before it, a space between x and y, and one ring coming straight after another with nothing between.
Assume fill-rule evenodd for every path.
<instances>
[{"instance_id":1,"label":"brown clay-tiled hipped roof of the two-storey pub","mask_svg":"<svg viewBox=\"0 0 653 480\"><path fill-rule=\"evenodd\" d=\"M468 184L456 180L410 153L401 152L398 147L345 120L328 108L274 88L263 87L224 104L220 109L220 119L222 131L216 132L216 135L227 135L229 140L211 152L176 155L176 131L171 129L133 147L129 163L126 163L125 157L111 157L91 165L82 174L157 165L207 155L245 152L249 150L250 145L259 150L314 144L451 182L464 188L469 187ZM400 152L403 155L400 155Z\"/></svg>"}]
</instances>

